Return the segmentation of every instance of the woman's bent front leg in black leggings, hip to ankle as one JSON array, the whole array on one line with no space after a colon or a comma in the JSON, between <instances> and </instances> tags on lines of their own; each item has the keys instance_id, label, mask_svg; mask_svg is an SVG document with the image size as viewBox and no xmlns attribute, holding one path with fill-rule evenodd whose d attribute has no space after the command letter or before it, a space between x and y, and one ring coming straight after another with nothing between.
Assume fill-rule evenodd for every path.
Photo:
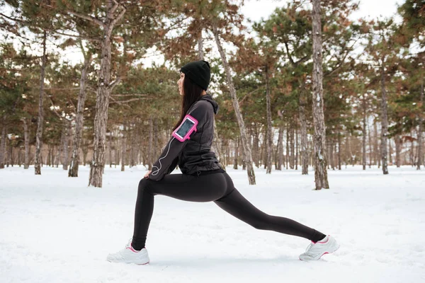
<instances>
[{"instance_id":1,"label":"woman's bent front leg in black leggings, hip to ankle","mask_svg":"<svg viewBox=\"0 0 425 283\"><path fill-rule=\"evenodd\" d=\"M222 173L202 175L171 174L162 180L142 179L139 183L135 208L135 229L132 247L145 247L147 230L154 211L154 195L166 195L189 202L211 202L225 195L226 179Z\"/></svg>"}]
</instances>

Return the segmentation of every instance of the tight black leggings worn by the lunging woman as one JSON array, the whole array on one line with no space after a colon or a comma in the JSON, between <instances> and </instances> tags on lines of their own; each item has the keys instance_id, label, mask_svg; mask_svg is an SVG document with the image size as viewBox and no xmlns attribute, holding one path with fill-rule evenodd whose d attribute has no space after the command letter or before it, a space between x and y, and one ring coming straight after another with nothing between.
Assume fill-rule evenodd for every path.
<instances>
[{"instance_id":1,"label":"tight black leggings worn by the lunging woman","mask_svg":"<svg viewBox=\"0 0 425 283\"><path fill-rule=\"evenodd\" d=\"M143 178L139 183L135 209L132 247L145 247L147 230L154 211L154 195L166 195L189 202L215 202L220 208L256 229L271 230L317 242L324 234L288 218L271 216L257 209L234 188L227 173L198 177L184 174L165 175L162 180Z\"/></svg>"}]
</instances>

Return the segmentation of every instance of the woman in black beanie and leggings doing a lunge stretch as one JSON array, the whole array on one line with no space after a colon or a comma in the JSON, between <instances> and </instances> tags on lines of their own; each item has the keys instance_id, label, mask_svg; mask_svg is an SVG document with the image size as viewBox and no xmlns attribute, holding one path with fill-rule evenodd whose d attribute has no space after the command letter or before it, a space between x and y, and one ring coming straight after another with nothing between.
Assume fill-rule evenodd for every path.
<instances>
[{"instance_id":1,"label":"woman in black beanie and leggings doing a lunge stretch","mask_svg":"<svg viewBox=\"0 0 425 283\"><path fill-rule=\"evenodd\" d=\"M291 219L261 212L234 188L232 179L210 151L214 115L218 110L217 103L206 93L210 83L210 64L206 61L191 62L181 67L180 71L180 120L152 171L140 180L132 239L123 250L108 255L107 259L139 265L149 262L145 242L155 195L190 202L215 202L229 214L256 229L307 238L312 243L300 255L300 260L318 260L322 255L337 250L339 245L332 236L326 236ZM178 163L183 174L169 175Z\"/></svg>"}]
</instances>

